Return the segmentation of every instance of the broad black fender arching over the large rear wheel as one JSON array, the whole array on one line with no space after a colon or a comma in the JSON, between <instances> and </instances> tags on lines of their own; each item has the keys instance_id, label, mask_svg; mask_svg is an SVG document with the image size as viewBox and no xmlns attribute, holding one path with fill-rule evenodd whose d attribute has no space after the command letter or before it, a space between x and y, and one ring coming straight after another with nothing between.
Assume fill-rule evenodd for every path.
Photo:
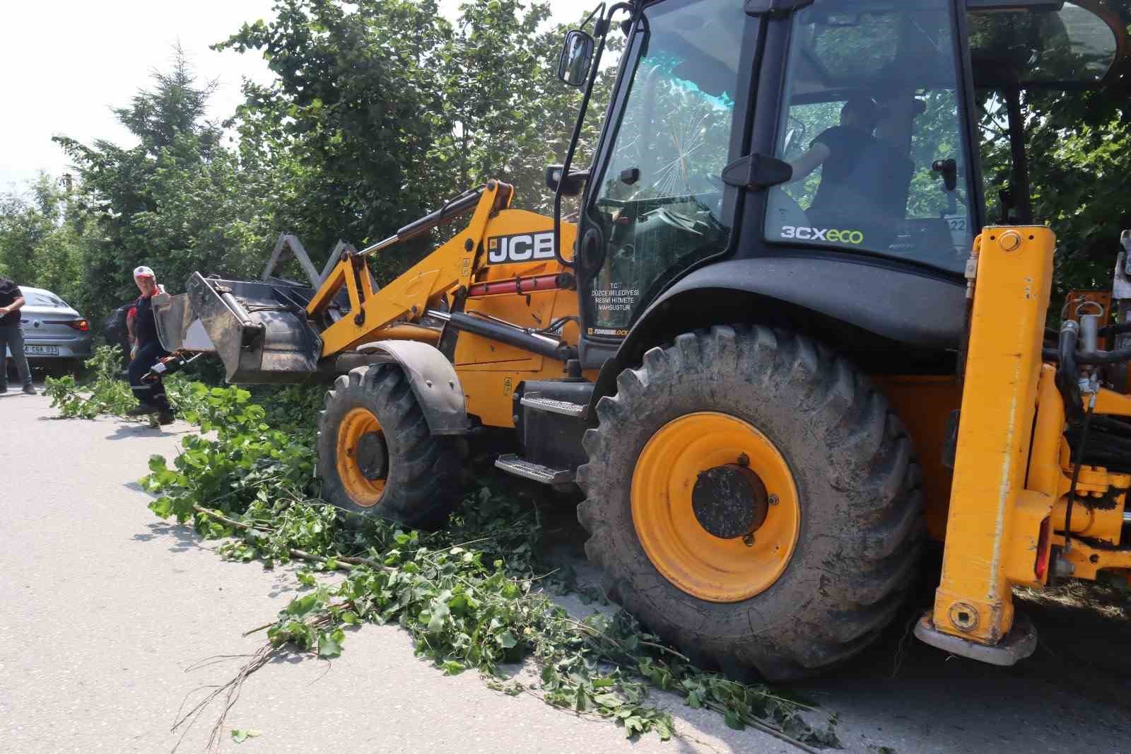
<instances>
[{"instance_id":1,"label":"broad black fender arching over the large rear wheel","mask_svg":"<svg viewBox=\"0 0 1131 754\"><path fill-rule=\"evenodd\" d=\"M864 369L952 368L966 327L966 285L910 268L823 257L758 257L701 267L667 289L604 362L596 404L645 351L681 333L739 323L785 327L848 353ZM949 354L949 355L946 355ZM887 360L887 361L886 361Z\"/></svg>"}]
</instances>

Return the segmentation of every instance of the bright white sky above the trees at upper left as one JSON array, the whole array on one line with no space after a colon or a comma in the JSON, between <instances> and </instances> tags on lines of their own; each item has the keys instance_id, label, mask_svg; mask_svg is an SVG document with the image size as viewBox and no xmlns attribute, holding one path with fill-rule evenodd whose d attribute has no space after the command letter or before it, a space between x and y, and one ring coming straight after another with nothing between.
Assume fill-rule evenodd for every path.
<instances>
[{"instance_id":1,"label":"bright white sky above the trees at upper left","mask_svg":"<svg viewBox=\"0 0 1131 754\"><path fill-rule=\"evenodd\" d=\"M273 0L0 0L0 192L20 190L38 171L67 172L51 140L66 135L89 144L136 142L111 108L129 104L167 69L178 42L201 79L219 79L208 117L223 120L240 103L243 78L267 83L253 53L214 52L209 45L243 23L273 17ZM460 0L440 0L455 18ZM550 0L555 20L572 19L596 0Z\"/></svg>"}]
</instances>

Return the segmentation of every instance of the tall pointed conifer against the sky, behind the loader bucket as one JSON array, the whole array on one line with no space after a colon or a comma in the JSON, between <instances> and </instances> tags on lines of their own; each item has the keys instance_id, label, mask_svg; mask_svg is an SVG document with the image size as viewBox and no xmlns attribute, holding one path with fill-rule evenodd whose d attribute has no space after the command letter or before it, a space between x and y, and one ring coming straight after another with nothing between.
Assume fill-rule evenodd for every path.
<instances>
[{"instance_id":1,"label":"tall pointed conifer against the sky, behind the loader bucket","mask_svg":"<svg viewBox=\"0 0 1131 754\"><path fill-rule=\"evenodd\" d=\"M173 292L198 269L251 273L283 224L240 153L224 148L221 127L206 119L215 82L198 84L178 48L153 83L114 110L136 147L55 139L78 171L71 212L89 225L75 299L95 319L137 295L138 265L153 267Z\"/></svg>"}]
</instances>

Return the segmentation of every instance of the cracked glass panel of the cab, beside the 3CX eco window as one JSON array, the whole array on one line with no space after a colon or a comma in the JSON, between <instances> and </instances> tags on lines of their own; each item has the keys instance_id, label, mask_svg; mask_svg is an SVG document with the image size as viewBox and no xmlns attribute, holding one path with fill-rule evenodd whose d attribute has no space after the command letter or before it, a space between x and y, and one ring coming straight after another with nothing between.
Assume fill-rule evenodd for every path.
<instances>
[{"instance_id":1,"label":"cracked glass panel of the cab, beside the 3CX eco window","mask_svg":"<svg viewBox=\"0 0 1131 754\"><path fill-rule=\"evenodd\" d=\"M719 175L731 161L739 59L752 19L733 0L675 0L645 16L650 34L588 211L605 240L589 283L590 335L623 335L649 291L722 251L729 237Z\"/></svg>"}]
</instances>

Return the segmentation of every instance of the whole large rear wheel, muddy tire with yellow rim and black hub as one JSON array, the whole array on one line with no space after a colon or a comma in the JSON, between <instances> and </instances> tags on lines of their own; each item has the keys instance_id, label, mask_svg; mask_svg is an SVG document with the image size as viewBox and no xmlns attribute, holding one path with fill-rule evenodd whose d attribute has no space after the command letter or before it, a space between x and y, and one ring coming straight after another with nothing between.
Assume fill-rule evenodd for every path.
<instances>
[{"instance_id":1,"label":"whole large rear wheel, muddy tire with yellow rim and black hub","mask_svg":"<svg viewBox=\"0 0 1131 754\"><path fill-rule=\"evenodd\" d=\"M597 415L578 472L586 554L683 652L797 678L895 617L921 550L920 472L844 358L765 327L684 334L624 370Z\"/></svg>"}]
</instances>

